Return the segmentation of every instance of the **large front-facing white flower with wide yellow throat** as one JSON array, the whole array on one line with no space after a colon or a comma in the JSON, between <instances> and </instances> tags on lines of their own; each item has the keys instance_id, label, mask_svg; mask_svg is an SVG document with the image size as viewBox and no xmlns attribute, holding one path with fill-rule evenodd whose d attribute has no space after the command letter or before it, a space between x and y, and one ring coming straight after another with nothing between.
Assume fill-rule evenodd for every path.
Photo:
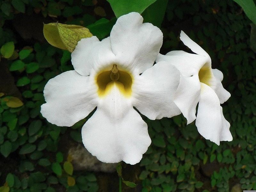
<instances>
[{"instance_id":1,"label":"large front-facing white flower with wide yellow throat","mask_svg":"<svg viewBox=\"0 0 256 192\"><path fill-rule=\"evenodd\" d=\"M133 107L149 119L181 113L172 101L180 72L165 61L153 66L163 34L142 21L132 12L118 18L110 37L79 41L71 55L75 70L50 79L44 88L41 113L52 124L72 126L97 107L82 139L103 162L136 164L147 151L148 127Z\"/></svg>"}]
</instances>

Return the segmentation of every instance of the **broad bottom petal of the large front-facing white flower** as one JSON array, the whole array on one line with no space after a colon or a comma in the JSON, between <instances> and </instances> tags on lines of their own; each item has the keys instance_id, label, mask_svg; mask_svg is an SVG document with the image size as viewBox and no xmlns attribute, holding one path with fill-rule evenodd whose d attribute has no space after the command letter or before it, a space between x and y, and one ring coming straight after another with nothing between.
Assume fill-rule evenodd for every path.
<instances>
[{"instance_id":1,"label":"broad bottom petal of the large front-facing white flower","mask_svg":"<svg viewBox=\"0 0 256 192\"><path fill-rule=\"evenodd\" d=\"M85 148L106 163L139 163L151 143L147 124L117 86L84 124L82 139Z\"/></svg>"}]
</instances>

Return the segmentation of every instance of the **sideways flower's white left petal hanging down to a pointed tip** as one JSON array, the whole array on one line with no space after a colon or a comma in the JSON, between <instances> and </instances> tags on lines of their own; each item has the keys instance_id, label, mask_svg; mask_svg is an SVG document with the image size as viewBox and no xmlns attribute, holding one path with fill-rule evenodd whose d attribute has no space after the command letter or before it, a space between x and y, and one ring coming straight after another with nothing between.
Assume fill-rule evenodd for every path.
<instances>
[{"instance_id":1,"label":"sideways flower's white left petal hanging down to a pointed tip","mask_svg":"<svg viewBox=\"0 0 256 192\"><path fill-rule=\"evenodd\" d=\"M174 103L190 124L196 119L196 105L200 98L201 85L198 76L180 76L180 84L174 95Z\"/></svg>"}]
</instances>

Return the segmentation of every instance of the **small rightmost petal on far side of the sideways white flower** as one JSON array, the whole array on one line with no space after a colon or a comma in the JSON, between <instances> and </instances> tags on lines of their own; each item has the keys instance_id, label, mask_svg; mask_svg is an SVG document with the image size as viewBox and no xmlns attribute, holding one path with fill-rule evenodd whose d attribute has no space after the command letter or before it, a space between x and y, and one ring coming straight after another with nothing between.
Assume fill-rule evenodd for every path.
<instances>
[{"instance_id":1,"label":"small rightmost petal on far side of the sideways white flower","mask_svg":"<svg viewBox=\"0 0 256 192\"><path fill-rule=\"evenodd\" d=\"M216 92L216 94L219 97L220 103L224 103L225 101L228 100L228 98L231 96L230 93L224 89L221 81L223 79L223 74L220 70L218 69L212 69L213 75L216 78L216 82L214 86L211 86L212 89Z\"/></svg>"}]
</instances>

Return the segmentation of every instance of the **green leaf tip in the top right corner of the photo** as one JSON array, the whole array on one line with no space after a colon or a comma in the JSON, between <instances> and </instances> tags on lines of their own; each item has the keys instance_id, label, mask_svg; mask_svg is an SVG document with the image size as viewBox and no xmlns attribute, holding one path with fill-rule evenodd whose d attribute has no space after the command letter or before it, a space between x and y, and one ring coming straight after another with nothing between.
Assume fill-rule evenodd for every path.
<instances>
[{"instance_id":1,"label":"green leaf tip in the top right corner of the photo","mask_svg":"<svg viewBox=\"0 0 256 192\"><path fill-rule=\"evenodd\" d=\"M256 6L254 4L253 0L233 0L237 4L239 4L246 16L254 23L256 24Z\"/></svg>"}]
</instances>

